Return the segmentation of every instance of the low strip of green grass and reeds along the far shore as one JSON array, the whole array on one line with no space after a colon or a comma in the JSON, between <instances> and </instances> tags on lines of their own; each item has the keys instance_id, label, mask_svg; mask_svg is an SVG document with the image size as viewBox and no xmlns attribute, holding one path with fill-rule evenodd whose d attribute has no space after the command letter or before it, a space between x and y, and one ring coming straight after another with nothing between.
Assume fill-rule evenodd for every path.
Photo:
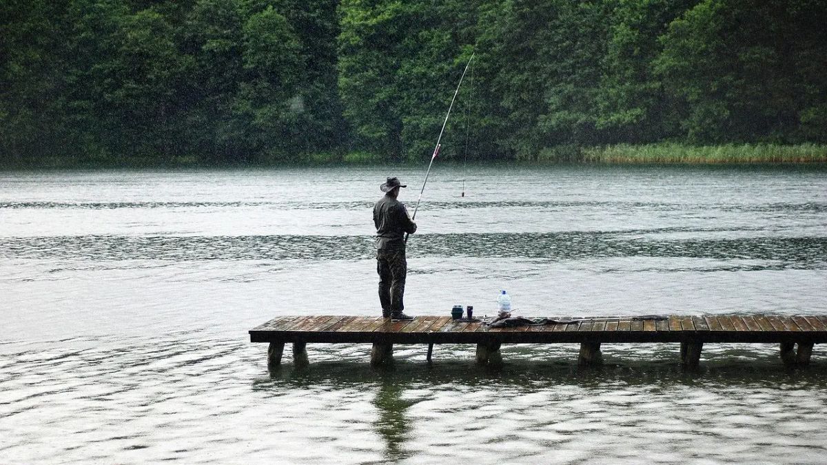
<instances>
[{"instance_id":1,"label":"low strip of green grass and reeds along the far shore","mask_svg":"<svg viewBox=\"0 0 827 465\"><path fill-rule=\"evenodd\" d=\"M448 159L447 163L459 163ZM117 168L222 168L324 165L383 165L388 161L370 151L316 152L287 163L283 159L244 162L205 162L197 156L157 158L83 158L39 157L23 159L19 163L0 162L3 170L59 170L59 169L117 169ZM401 163L420 164L406 159ZM822 144L727 144L691 146L680 143L646 145L618 144L613 146L574 147L557 146L539 151L536 156L521 159L469 159L470 164L509 163L514 165L552 165L555 163L582 163L599 165L818 165L827 164L827 145Z\"/></svg>"}]
</instances>

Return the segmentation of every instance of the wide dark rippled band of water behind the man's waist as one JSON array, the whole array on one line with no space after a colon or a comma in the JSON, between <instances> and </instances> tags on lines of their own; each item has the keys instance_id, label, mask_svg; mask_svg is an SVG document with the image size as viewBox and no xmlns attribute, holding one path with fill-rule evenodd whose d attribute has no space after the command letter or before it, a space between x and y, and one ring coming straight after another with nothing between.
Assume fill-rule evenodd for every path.
<instances>
[{"instance_id":1,"label":"wide dark rippled band of water behind the man's waist","mask_svg":"<svg viewBox=\"0 0 827 465\"><path fill-rule=\"evenodd\" d=\"M409 256L588 260L611 257L706 258L761 261L739 270L827 266L827 237L743 237L648 240L640 232L425 234ZM631 237L629 237L631 236ZM82 260L358 260L374 255L370 236L9 237L4 259Z\"/></svg>"}]
</instances>

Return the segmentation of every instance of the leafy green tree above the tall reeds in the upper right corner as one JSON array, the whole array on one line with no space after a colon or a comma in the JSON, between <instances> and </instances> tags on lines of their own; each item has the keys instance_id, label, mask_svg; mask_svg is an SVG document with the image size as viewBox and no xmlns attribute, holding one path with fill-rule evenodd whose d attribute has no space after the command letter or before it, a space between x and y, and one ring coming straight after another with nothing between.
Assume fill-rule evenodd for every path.
<instances>
[{"instance_id":1,"label":"leafy green tree above the tall reeds in the upper right corner","mask_svg":"<svg viewBox=\"0 0 827 465\"><path fill-rule=\"evenodd\" d=\"M704 0L673 21L654 66L686 137L824 137L825 17L824 2Z\"/></svg>"}]
</instances>

